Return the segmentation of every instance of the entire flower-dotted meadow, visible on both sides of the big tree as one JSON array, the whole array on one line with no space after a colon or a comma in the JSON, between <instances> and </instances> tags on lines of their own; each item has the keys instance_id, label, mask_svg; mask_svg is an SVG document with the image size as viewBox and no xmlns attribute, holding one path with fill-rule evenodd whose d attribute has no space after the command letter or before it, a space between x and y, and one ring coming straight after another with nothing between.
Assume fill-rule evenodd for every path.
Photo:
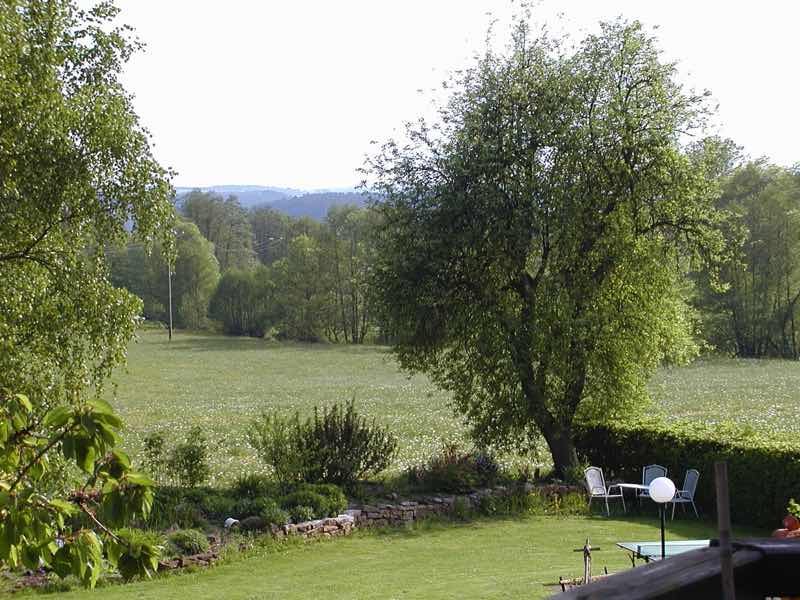
<instances>
[{"instance_id":1,"label":"entire flower-dotted meadow, visible on both sides of the big tree","mask_svg":"<svg viewBox=\"0 0 800 600\"><path fill-rule=\"evenodd\" d=\"M246 440L262 411L309 413L355 398L358 409L400 439L394 470L426 460L445 441L465 439L448 395L425 377L402 373L386 348L143 330L109 398L126 423L124 446L136 457L142 438L160 431L179 440L206 431L212 483L261 469ZM735 420L759 430L800 430L800 363L714 359L661 369L652 410L667 418ZM109 390L108 396L112 396Z\"/></svg>"}]
</instances>

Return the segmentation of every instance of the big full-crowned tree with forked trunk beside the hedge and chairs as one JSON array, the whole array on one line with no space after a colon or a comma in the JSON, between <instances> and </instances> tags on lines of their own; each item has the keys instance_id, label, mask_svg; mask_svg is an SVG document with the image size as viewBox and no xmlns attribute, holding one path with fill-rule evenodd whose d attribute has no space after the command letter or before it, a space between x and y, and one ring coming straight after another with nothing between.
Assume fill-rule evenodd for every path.
<instances>
[{"instance_id":1,"label":"big full-crowned tree with forked trunk beside the hedge and chairs","mask_svg":"<svg viewBox=\"0 0 800 600\"><path fill-rule=\"evenodd\" d=\"M440 123L366 167L372 284L401 364L451 390L480 441L541 434L557 473L577 464L576 418L642 398L686 350L677 267L716 247L707 165L682 149L703 97L638 23L568 46L519 20L507 53L453 82Z\"/></svg>"}]
</instances>

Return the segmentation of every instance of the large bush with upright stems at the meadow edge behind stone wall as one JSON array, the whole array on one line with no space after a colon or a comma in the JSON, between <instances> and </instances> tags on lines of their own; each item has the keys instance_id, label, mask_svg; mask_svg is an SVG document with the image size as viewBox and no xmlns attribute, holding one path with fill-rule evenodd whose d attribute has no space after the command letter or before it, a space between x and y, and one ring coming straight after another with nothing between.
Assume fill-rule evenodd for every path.
<instances>
[{"instance_id":1,"label":"large bush with upright stems at the meadow edge behind stone wall","mask_svg":"<svg viewBox=\"0 0 800 600\"><path fill-rule=\"evenodd\" d=\"M397 438L388 429L361 417L353 402L334 404L301 421L262 415L248 430L248 439L276 477L287 482L352 485L380 473L397 452Z\"/></svg>"}]
</instances>

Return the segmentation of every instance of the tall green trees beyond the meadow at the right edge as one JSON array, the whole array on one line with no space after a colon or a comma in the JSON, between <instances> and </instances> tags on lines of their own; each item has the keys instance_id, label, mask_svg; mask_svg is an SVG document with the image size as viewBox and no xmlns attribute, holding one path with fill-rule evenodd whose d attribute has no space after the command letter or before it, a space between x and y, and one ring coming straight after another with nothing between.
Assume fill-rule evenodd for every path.
<instances>
[{"instance_id":1,"label":"tall green trees beyond the meadow at the right edge","mask_svg":"<svg viewBox=\"0 0 800 600\"><path fill-rule=\"evenodd\" d=\"M706 334L723 352L796 359L800 173L763 159L731 160L719 175L717 202L726 216L728 252L714 273L718 280L705 273L698 277Z\"/></svg>"}]
</instances>

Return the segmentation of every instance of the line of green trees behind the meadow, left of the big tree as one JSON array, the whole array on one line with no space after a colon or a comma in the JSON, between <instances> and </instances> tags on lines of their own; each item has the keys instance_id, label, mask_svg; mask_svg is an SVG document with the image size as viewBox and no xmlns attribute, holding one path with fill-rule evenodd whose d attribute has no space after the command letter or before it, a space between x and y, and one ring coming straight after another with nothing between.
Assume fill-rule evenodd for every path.
<instances>
[{"instance_id":1,"label":"line of green trees behind the meadow, left of the big tree","mask_svg":"<svg viewBox=\"0 0 800 600\"><path fill-rule=\"evenodd\" d=\"M322 222L235 196L182 197L172 263L173 318L188 329L279 339L363 343L379 333L367 301L374 212L333 206ZM169 265L158 243L109 250L111 279L168 319Z\"/></svg>"}]
</instances>

